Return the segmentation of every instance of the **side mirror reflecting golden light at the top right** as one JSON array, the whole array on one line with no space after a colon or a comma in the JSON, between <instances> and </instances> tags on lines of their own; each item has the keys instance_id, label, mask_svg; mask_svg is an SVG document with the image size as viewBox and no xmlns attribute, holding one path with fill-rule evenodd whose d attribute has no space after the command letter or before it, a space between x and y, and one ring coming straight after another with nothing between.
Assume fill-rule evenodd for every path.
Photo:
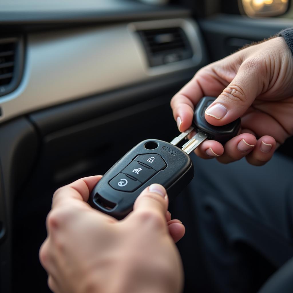
<instances>
[{"instance_id":1,"label":"side mirror reflecting golden light at the top right","mask_svg":"<svg viewBox=\"0 0 293 293\"><path fill-rule=\"evenodd\" d=\"M239 10L250 17L279 16L289 9L290 0L238 0Z\"/></svg>"}]
</instances>

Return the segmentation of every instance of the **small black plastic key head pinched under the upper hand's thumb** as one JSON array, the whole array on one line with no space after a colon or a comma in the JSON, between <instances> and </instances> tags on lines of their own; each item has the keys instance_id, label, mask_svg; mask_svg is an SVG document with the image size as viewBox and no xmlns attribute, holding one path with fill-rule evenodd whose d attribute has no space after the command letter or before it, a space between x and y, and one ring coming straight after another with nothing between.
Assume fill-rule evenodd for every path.
<instances>
[{"instance_id":1,"label":"small black plastic key head pinched under the upper hand's thumb","mask_svg":"<svg viewBox=\"0 0 293 293\"><path fill-rule=\"evenodd\" d=\"M205 110L207 110L207 107L212 104L215 99L216 98L214 97L204 97L199 101L194 112L193 126L195 127L195 130L204 132L208 139L214 139L225 144L229 139L237 135L241 119L238 118L223 126L209 124L207 120L205 120Z\"/></svg>"}]
</instances>

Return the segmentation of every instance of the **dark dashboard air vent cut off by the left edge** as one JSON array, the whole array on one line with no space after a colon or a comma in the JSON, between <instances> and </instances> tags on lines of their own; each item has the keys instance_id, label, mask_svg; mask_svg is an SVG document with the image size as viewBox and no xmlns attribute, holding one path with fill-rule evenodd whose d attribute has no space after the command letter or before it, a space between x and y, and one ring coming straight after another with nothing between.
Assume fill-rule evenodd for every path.
<instances>
[{"instance_id":1,"label":"dark dashboard air vent cut off by the left edge","mask_svg":"<svg viewBox=\"0 0 293 293\"><path fill-rule=\"evenodd\" d=\"M22 39L0 37L0 96L16 88L20 81L22 67Z\"/></svg>"}]
</instances>

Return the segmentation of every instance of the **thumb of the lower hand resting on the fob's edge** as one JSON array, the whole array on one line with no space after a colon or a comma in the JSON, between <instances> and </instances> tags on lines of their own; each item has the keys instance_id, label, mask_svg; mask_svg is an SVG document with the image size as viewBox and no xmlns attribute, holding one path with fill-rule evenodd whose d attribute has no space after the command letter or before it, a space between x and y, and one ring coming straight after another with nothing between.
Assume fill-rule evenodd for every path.
<instances>
[{"instance_id":1,"label":"thumb of the lower hand resting on the fob's edge","mask_svg":"<svg viewBox=\"0 0 293 293\"><path fill-rule=\"evenodd\" d=\"M152 184L147 187L134 202L135 212L151 212L159 214L166 222L166 212L168 209L168 196L166 189L160 184Z\"/></svg>"}]
</instances>

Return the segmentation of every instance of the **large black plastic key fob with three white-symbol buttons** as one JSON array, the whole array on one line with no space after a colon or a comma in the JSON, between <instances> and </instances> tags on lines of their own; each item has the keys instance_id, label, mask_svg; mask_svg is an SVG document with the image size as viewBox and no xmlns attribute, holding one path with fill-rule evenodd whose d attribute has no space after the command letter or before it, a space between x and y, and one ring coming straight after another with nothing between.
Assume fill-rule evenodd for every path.
<instances>
[{"instance_id":1,"label":"large black plastic key fob with three white-symbol buttons","mask_svg":"<svg viewBox=\"0 0 293 293\"><path fill-rule=\"evenodd\" d=\"M163 185L172 200L190 183L193 175L192 161L184 151L159 139L147 139L125 154L101 178L88 203L105 214L123 219L147 186Z\"/></svg>"}]
</instances>

